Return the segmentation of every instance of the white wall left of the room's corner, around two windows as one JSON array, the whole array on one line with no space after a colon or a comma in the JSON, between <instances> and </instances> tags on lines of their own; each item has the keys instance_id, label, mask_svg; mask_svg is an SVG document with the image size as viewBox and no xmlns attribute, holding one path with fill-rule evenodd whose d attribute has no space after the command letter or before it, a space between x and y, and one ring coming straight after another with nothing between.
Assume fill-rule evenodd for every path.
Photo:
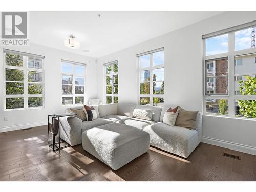
<instances>
[{"instance_id":1,"label":"white wall left of the room's corner, around two windows","mask_svg":"<svg viewBox=\"0 0 256 192\"><path fill-rule=\"evenodd\" d=\"M96 64L95 59L76 55L65 51L52 49L49 47L31 44L29 47L6 47L16 51L23 51L38 55L44 55L45 70L45 107L42 109L25 109L4 111L3 106L3 49L0 50L0 132L24 129L27 127L47 124L47 115L54 113L64 113L65 107L62 106L62 80L61 80L61 59L86 63L86 98L96 98ZM4 116L8 116L9 121L4 121Z\"/></svg>"}]
</instances>

